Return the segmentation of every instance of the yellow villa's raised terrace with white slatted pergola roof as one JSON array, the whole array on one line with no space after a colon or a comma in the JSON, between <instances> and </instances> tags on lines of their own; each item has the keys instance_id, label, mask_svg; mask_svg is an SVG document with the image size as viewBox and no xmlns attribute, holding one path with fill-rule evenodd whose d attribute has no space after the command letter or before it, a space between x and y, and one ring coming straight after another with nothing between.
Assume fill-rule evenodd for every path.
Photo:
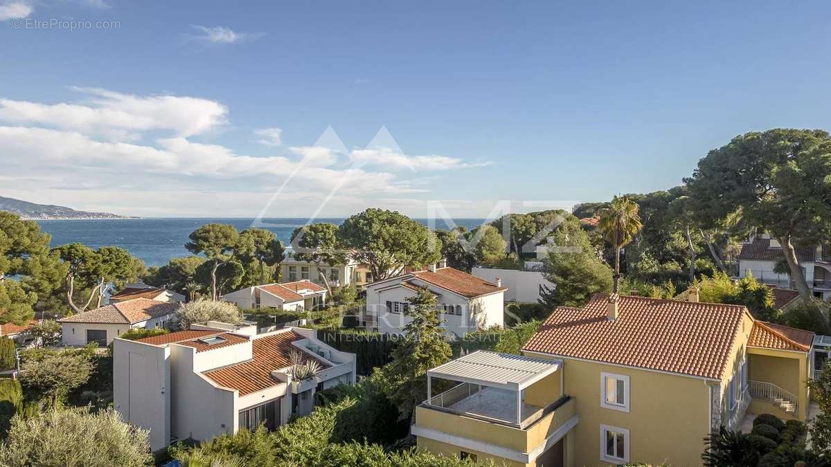
<instances>
[{"instance_id":1,"label":"yellow villa's raised terrace with white slatted pergola roof","mask_svg":"<svg viewBox=\"0 0 831 467\"><path fill-rule=\"evenodd\" d=\"M435 379L458 384L416 407L412 434L420 446L439 442L521 464L562 455L560 441L578 423L562 364L476 351L437 366L427 372L430 391Z\"/></svg>"}]
</instances>

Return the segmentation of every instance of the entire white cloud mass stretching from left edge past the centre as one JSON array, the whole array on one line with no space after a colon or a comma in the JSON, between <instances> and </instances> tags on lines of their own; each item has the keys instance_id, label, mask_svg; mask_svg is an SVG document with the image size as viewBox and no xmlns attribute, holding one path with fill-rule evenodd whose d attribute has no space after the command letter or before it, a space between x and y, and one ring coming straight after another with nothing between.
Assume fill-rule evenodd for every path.
<instances>
[{"instance_id":1,"label":"entire white cloud mass stretching from left edge past the centre","mask_svg":"<svg viewBox=\"0 0 831 467\"><path fill-rule=\"evenodd\" d=\"M331 127L314 145L288 147L280 129L255 130L280 152L244 155L191 138L229 123L218 102L74 89L81 101L0 98L0 194L133 215L253 216L279 192L268 216L309 214L322 204L323 213L340 215L423 204L408 197L424 197L435 185L431 174L403 177L398 170L476 165L377 145L349 152ZM55 196L45 199L47 193Z\"/></svg>"}]
</instances>

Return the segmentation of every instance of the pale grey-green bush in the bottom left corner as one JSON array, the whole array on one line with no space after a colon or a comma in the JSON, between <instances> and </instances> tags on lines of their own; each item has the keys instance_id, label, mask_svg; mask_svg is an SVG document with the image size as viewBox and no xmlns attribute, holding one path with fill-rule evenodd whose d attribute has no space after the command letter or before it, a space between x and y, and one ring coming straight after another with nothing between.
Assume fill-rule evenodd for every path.
<instances>
[{"instance_id":1,"label":"pale grey-green bush in the bottom left corner","mask_svg":"<svg viewBox=\"0 0 831 467\"><path fill-rule=\"evenodd\" d=\"M121 421L114 410L47 410L15 417L0 445L0 465L9 467L138 467L152 461L147 431Z\"/></svg>"}]
</instances>

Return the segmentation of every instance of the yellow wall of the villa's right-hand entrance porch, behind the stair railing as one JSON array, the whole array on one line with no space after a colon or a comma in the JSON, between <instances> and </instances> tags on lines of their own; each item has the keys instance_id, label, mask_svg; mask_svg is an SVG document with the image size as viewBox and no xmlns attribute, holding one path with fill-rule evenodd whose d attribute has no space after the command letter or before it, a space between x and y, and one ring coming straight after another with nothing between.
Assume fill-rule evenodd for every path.
<instances>
[{"instance_id":1,"label":"yellow wall of the villa's right-hand entrance porch, behind the stair railing","mask_svg":"<svg viewBox=\"0 0 831 467\"><path fill-rule=\"evenodd\" d=\"M797 396L797 412L789 414L768 401L753 401L751 413L770 413L779 418L806 420L808 417L810 375L809 352L776 351L750 347L750 379L774 383Z\"/></svg>"}]
</instances>

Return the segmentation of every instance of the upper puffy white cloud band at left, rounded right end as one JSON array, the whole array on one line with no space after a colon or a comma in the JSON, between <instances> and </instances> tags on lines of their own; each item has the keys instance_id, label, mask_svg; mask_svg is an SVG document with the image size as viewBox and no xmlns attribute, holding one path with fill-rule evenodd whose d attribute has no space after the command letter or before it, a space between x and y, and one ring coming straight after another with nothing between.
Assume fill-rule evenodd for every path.
<instances>
[{"instance_id":1,"label":"upper puffy white cloud band at left, rounded right end","mask_svg":"<svg viewBox=\"0 0 831 467\"><path fill-rule=\"evenodd\" d=\"M170 130L199 135L227 122L228 109L216 101L186 96L133 96L98 88L73 88L86 102L41 104L0 98L0 121L34 123L111 140L135 139L135 133Z\"/></svg>"}]
</instances>

